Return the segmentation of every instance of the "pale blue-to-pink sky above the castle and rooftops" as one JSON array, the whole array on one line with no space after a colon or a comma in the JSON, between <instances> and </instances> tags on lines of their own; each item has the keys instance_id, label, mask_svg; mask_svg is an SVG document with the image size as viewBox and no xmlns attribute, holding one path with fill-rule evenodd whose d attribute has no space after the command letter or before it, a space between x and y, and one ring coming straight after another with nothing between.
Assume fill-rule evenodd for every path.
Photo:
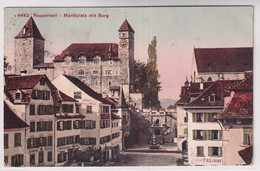
<instances>
[{"instance_id":1,"label":"pale blue-to-pink sky above the castle and rooftops","mask_svg":"<svg viewBox=\"0 0 260 171\"><path fill-rule=\"evenodd\" d=\"M13 63L14 37L29 17L25 13L57 14L34 20L45 38L45 50L60 54L71 43L118 43L118 29L127 18L135 30L135 59L146 61L157 37L159 98L178 99L186 76L190 80L193 48L252 47L252 7L138 7L138 8L6 8L4 54ZM63 14L97 14L96 18L64 18ZM108 14L99 18L98 14ZM16 17L15 17L16 15Z\"/></svg>"}]
</instances>

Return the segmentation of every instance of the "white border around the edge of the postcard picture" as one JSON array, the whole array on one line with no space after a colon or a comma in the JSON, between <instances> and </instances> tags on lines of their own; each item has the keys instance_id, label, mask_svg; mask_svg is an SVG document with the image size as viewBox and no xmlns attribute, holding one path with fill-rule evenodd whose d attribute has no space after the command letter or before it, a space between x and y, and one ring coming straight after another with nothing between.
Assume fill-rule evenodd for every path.
<instances>
[{"instance_id":1,"label":"white border around the edge of the postcard picture","mask_svg":"<svg viewBox=\"0 0 260 171\"><path fill-rule=\"evenodd\" d=\"M260 124L260 1L259 0L8 0L0 2L0 25L4 25L4 8L5 7L117 7L117 6L223 6L223 5L252 5L254 6L254 165L253 166L223 166L223 167L87 167L76 168L76 170L259 170L260 169L260 145L259 131ZM3 39L4 27L0 32L0 53L2 56L4 48ZM3 58L0 58L3 64ZM0 65L3 71L3 65ZM3 74L0 75L1 86L0 92L3 92ZM2 100L2 93L0 93ZM0 111L3 114L3 103L0 103ZM3 123L3 115L0 122ZM3 125L3 124L1 124ZM0 127L0 147L3 147L3 126ZM0 170L75 170L75 168L4 168L3 167L3 148L0 148Z\"/></svg>"}]
</instances>

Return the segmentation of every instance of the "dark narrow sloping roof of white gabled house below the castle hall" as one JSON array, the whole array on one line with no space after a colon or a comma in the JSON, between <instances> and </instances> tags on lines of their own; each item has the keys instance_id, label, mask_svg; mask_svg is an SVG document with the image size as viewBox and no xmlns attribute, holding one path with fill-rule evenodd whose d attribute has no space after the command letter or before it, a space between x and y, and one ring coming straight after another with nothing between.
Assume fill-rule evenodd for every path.
<instances>
[{"instance_id":1,"label":"dark narrow sloping roof of white gabled house below the castle hall","mask_svg":"<svg viewBox=\"0 0 260 171\"><path fill-rule=\"evenodd\" d=\"M102 97L102 94L99 94L92 90L90 87L88 87L86 84L84 84L82 81L80 81L78 78L73 77L71 75L63 74L65 78L67 78L70 82L72 82L75 86L77 86L79 89L84 91L86 94L88 94L90 97L109 105L114 105L113 103L109 102L108 100L104 99Z\"/></svg>"}]
</instances>

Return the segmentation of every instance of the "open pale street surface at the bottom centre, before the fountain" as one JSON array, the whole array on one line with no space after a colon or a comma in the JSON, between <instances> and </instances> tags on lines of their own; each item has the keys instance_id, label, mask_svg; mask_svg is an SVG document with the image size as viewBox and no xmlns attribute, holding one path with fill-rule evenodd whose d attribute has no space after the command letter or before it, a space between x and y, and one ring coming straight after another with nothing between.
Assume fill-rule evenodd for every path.
<instances>
[{"instance_id":1,"label":"open pale street surface at the bottom centre, before the fountain","mask_svg":"<svg viewBox=\"0 0 260 171\"><path fill-rule=\"evenodd\" d=\"M176 160L181 157L181 153L123 152L120 161L111 166L176 166Z\"/></svg>"}]
</instances>

